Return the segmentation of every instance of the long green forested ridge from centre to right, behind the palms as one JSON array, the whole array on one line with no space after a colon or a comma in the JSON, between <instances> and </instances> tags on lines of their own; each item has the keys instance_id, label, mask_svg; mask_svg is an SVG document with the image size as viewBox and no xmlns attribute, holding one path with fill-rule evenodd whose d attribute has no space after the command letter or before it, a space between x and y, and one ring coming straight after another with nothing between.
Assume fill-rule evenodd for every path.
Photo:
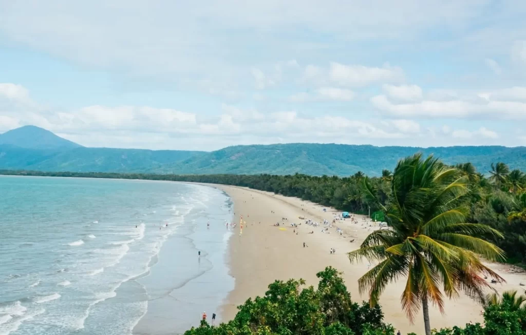
<instances>
[{"instance_id":1,"label":"long green forested ridge from centre to right, behind the palms","mask_svg":"<svg viewBox=\"0 0 526 335\"><path fill-rule=\"evenodd\" d=\"M178 174L294 174L347 176L362 171L378 176L393 170L400 158L416 152L434 154L445 163L471 162L488 173L493 162L526 171L526 148L505 146L451 146L414 148L346 144L291 143L238 145L194 156L188 160L154 169L156 173Z\"/></svg>"}]
</instances>

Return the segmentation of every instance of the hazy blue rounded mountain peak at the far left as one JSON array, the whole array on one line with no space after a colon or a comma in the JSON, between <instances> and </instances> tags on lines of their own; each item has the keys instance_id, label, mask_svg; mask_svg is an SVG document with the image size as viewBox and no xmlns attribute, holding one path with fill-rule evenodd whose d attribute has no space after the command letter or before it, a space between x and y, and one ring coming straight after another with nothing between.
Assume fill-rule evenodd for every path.
<instances>
[{"instance_id":1,"label":"hazy blue rounded mountain peak at the far left","mask_svg":"<svg viewBox=\"0 0 526 335\"><path fill-rule=\"evenodd\" d=\"M49 130L34 125L25 125L0 134L0 145L40 150L66 150L82 147L80 144L58 137Z\"/></svg>"}]
</instances>

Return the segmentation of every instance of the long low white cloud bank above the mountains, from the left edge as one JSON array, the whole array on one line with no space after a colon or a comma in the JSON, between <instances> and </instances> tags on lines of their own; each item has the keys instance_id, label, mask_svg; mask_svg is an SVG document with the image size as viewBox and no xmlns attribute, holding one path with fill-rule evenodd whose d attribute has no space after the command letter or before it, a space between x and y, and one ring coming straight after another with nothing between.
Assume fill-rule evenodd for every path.
<instances>
[{"instance_id":1,"label":"long low white cloud bank above the mountains, from the left edge","mask_svg":"<svg viewBox=\"0 0 526 335\"><path fill-rule=\"evenodd\" d=\"M322 90L323 91L323 90ZM331 96L332 96L331 91ZM337 98L347 98L342 91ZM1 107L1 106L0 106ZM353 142L403 139L415 124L396 121L379 127L372 122L340 116L303 116L297 111L262 113L222 104L217 117L198 118L169 108L93 105L72 111L7 113L0 108L0 129L34 124L83 145L149 149L219 149L268 142ZM247 144L248 144L247 143Z\"/></svg>"}]
</instances>

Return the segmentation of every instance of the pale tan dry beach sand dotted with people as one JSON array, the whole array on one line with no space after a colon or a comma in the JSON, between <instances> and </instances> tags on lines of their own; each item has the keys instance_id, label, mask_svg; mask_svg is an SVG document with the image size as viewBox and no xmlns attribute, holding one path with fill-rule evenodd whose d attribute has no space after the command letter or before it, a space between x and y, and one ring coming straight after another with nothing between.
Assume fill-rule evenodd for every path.
<instances>
[{"instance_id":1,"label":"pale tan dry beach sand dotted with people","mask_svg":"<svg viewBox=\"0 0 526 335\"><path fill-rule=\"evenodd\" d=\"M236 306L241 305L249 297L262 296L267 286L276 279L303 278L307 285L317 285L316 273L326 266L333 266L343 272L343 279L354 301L368 300L367 295L360 296L357 280L367 271L367 261L363 264L350 264L346 253L359 248L363 238L378 226L369 227L362 221L363 216L356 215L358 224L352 224L350 219L338 221L330 234L321 233L325 228L323 219L332 221L341 212L323 207L299 198L285 197L268 192L246 189L244 187L209 185L225 191L234 202L234 222L238 223L235 233L230 238L228 264L230 275L235 278L235 288L228 295L220 310L221 320L227 321L236 315ZM272 211L274 213L272 213ZM247 223L242 235L239 236L239 218L243 216ZM306 217L320 223L319 227L305 225ZM282 221L282 218L288 221ZM275 227L275 223L285 222L286 230ZM290 223L301 224L294 228ZM284 226L281 226L284 227ZM336 233L336 227L343 234ZM294 233L296 230L297 234ZM314 231L313 234L308 234ZM350 240L354 239L354 242ZM304 247L303 243L308 247ZM336 253L330 254L330 248ZM373 266L374 264L371 264ZM494 285L498 291L518 290L523 292L519 283L526 283L524 273L512 273L509 266L492 264L491 267L507 281L505 284ZM380 305L385 315L385 321L406 334L424 332L423 318L417 315L414 324L410 324L401 309L400 296L405 281L389 285L380 297ZM455 300L446 300L445 313L441 315L438 308L431 308L430 319L432 328L463 326L467 322L481 322L482 308L469 297L461 294Z\"/></svg>"}]
</instances>

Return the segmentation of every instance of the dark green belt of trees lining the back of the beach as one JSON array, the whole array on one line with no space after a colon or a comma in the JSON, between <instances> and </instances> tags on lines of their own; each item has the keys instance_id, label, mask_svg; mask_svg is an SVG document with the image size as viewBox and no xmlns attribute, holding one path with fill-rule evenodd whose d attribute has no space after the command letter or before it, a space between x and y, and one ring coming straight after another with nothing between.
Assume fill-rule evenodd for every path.
<instances>
[{"instance_id":1,"label":"dark green belt of trees lining the back of the beach","mask_svg":"<svg viewBox=\"0 0 526 335\"><path fill-rule=\"evenodd\" d=\"M519 170L510 171L504 163L492 164L490 176L477 172L471 163L456 165L459 173L467 178L469 192L462 196L467 209L466 221L480 223L497 229L503 239L492 239L502 248L510 263L526 264L526 176ZM349 177L295 175L173 175L173 174L123 174L75 173L2 170L0 174L46 175L65 177L94 177L120 179L147 179L185 181L246 186L256 190L297 196L325 206L353 213L374 213L388 205L392 173L383 170L381 177L367 178L357 172ZM363 181L367 183L374 199L366 196Z\"/></svg>"}]
</instances>

